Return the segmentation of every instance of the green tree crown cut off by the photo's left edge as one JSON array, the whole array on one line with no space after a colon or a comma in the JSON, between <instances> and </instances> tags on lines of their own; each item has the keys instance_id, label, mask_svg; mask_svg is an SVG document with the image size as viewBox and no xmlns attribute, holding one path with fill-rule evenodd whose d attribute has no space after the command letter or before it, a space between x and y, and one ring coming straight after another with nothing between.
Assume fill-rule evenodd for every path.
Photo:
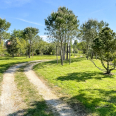
<instances>
[{"instance_id":1,"label":"green tree crown cut off by the photo's left edge","mask_svg":"<svg viewBox=\"0 0 116 116\"><path fill-rule=\"evenodd\" d=\"M0 43L2 39L9 37L9 34L6 33L6 31L9 29L10 25L11 24L7 22L5 19L0 18Z\"/></svg>"}]
</instances>

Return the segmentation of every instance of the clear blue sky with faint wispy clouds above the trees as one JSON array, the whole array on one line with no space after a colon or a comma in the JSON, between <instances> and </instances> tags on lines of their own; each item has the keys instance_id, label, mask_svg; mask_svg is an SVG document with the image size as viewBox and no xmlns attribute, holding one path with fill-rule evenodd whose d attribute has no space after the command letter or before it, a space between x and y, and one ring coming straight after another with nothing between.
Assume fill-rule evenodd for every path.
<instances>
[{"instance_id":1,"label":"clear blue sky with faint wispy clouds above the trees","mask_svg":"<svg viewBox=\"0 0 116 116\"><path fill-rule=\"evenodd\" d=\"M115 0L0 0L0 18L11 23L10 32L36 27L45 39L44 19L60 6L72 10L78 16L80 25L88 19L103 20L116 32Z\"/></svg>"}]
</instances>

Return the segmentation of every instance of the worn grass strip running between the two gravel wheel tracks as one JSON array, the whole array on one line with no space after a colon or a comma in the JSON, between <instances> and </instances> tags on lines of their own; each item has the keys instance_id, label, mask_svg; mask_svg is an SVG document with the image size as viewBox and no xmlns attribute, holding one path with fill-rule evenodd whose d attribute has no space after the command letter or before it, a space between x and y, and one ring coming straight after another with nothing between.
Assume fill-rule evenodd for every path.
<instances>
[{"instance_id":1,"label":"worn grass strip running between the two gravel wheel tracks","mask_svg":"<svg viewBox=\"0 0 116 116\"><path fill-rule=\"evenodd\" d=\"M50 108L38 94L36 87L29 82L23 71L24 67L17 70L15 82L22 99L26 103L26 108L13 114L18 115L19 112L24 112L24 116L53 116Z\"/></svg>"}]
</instances>

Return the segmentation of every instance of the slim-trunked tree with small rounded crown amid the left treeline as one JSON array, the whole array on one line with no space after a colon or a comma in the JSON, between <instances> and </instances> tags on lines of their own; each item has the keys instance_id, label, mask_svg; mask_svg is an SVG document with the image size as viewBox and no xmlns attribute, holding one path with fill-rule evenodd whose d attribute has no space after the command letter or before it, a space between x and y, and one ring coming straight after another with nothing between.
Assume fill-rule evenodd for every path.
<instances>
[{"instance_id":1,"label":"slim-trunked tree with small rounded crown amid the left treeline","mask_svg":"<svg viewBox=\"0 0 116 116\"><path fill-rule=\"evenodd\" d=\"M33 28L33 27L27 27L23 31L24 38L27 42L29 42L29 58L31 55L31 47L33 44L33 40L36 37L36 35L39 33L39 29Z\"/></svg>"}]
</instances>

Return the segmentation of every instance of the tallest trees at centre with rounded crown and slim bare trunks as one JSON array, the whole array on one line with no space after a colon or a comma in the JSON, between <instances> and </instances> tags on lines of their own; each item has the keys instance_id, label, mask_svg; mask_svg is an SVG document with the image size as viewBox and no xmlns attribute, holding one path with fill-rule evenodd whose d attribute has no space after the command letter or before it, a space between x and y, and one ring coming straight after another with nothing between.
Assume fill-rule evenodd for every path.
<instances>
[{"instance_id":1,"label":"tallest trees at centre with rounded crown and slim bare trunks","mask_svg":"<svg viewBox=\"0 0 116 116\"><path fill-rule=\"evenodd\" d=\"M71 43L71 39L76 36L79 26L78 23L77 16L66 7L59 7L57 12L51 13L45 19L46 34L49 35L50 39L60 44L61 65L63 65L63 56L65 57L66 44L68 46Z\"/></svg>"}]
</instances>

